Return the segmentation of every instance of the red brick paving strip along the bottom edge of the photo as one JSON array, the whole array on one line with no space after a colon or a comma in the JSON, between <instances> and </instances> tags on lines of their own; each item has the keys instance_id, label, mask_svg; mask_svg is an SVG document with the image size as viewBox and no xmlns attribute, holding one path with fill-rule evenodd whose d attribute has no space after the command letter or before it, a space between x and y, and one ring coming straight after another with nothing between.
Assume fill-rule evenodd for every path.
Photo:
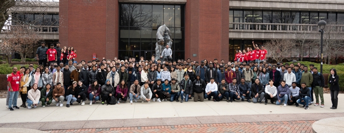
<instances>
[{"instance_id":1,"label":"red brick paving strip along the bottom edge of the photo","mask_svg":"<svg viewBox=\"0 0 344 133\"><path fill-rule=\"evenodd\" d=\"M48 133L311 133L315 121L281 121L152 126L132 128L56 130Z\"/></svg>"}]
</instances>

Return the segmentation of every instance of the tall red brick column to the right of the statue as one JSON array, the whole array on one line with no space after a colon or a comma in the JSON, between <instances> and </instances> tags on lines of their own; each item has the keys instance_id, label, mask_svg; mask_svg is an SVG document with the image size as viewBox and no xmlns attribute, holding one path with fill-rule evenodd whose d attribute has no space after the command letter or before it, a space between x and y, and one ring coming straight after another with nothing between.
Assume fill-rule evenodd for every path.
<instances>
[{"instance_id":1,"label":"tall red brick column to the right of the statue","mask_svg":"<svg viewBox=\"0 0 344 133\"><path fill-rule=\"evenodd\" d=\"M229 60L229 0L188 0L185 58ZM193 54L197 54L193 57Z\"/></svg>"}]
</instances>

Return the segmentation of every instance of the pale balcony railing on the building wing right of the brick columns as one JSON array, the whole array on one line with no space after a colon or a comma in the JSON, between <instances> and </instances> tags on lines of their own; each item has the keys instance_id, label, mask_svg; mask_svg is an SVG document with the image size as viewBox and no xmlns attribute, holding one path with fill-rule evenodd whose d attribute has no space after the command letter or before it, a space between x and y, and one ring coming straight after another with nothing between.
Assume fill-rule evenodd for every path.
<instances>
[{"instance_id":1,"label":"pale balcony railing on the building wing right of the brick columns","mask_svg":"<svg viewBox=\"0 0 344 133\"><path fill-rule=\"evenodd\" d=\"M229 23L233 25L229 29L243 30L296 30L296 31L317 31L320 29L316 24L272 24L272 23ZM333 30L344 31L344 25L327 25Z\"/></svg>"}]
</instances>

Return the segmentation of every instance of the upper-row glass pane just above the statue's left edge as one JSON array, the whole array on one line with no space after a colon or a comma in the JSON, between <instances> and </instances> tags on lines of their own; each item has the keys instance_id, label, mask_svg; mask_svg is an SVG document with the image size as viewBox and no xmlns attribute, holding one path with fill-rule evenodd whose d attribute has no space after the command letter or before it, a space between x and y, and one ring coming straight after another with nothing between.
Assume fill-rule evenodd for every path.
<instances>
[{"instance_id":1,"label":"upper-row glass pane just above the statue's left edge","mask_svg":"<svg viewBox=\"0 0 344 133\"><path fill-rule=\"evenodd\" d=\"M162 26L162 24L163 24L163 5L153 5L152 22L153 22L153 24L152 24L153 29L158 29L158 27Z\"/></svg>"}]
</instances>

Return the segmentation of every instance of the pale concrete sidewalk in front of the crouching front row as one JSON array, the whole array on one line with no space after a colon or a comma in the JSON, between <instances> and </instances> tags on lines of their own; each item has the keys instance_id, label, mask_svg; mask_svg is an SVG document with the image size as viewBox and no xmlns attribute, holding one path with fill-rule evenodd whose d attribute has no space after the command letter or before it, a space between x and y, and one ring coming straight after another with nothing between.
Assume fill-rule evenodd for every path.
<instances>
[{"instance_id":1,"label":"pale concrete sidewalk in front of the crouching front row","mask_svg":"<svg viewBox=\"0 0 344 133\"><path fill-rule=\"evenodd\" d=\"M217 123L218 121L221 123L229 123L242 122L245 120L251 120L252 122L319 120L322 118L335 117L337 114L338 116L344 115L344 107L341 107L344 103L344 94L339 95L339 107L335 110L330 109L330 106L332 106L330 94L324 94L324 99L325 107L322 108L320 106L311 105L309 110L305 110L302 107L295 107L295 105L286 107L283 105L272 105L270 102L268 102L268 105L264 105L248 103L246 101L227 103L226 101L212 102L206 100L205 102L189 101L184 103L138 102L133 103L133 105L130 105L129 102L123 102L120 105L108 106L101 104L89 106L89 102L87 101L85 106L74 103L74 105L69 108L65 107L64 102L63 107L51 105L43 108L39 105L37 108L21 108L15 111L6 110L6 99L0 99L0 103L3 103L0 106L0 108L3 109L0 111L0 126L11 127L13 124L10 123L21 123L22 126L26 127L27 124L25 123L30 122L31 124L30 126L28 125L29 127L36 127L33 129L39 127L38 129L40 130L57 130L61 128L65 129L65 127L69 127L67 129L98 128L94 126L102 124L96 123L107 123L110 121L114 127L134 127L137 126L135 123L140 124L140 121L142 121L141 124L143 125L139 126L145 126L145 123L152 124L147 126L155 126L158 124L175 125L177 123L194 124L195 122ZM20 104L21 101L18 99L18 105ZM61 123L58 121L64 122ZM72 125L75 125L75 127L70 127ZM88 125L93 127L89 127Z\"/></svg>"}]
</instances>

